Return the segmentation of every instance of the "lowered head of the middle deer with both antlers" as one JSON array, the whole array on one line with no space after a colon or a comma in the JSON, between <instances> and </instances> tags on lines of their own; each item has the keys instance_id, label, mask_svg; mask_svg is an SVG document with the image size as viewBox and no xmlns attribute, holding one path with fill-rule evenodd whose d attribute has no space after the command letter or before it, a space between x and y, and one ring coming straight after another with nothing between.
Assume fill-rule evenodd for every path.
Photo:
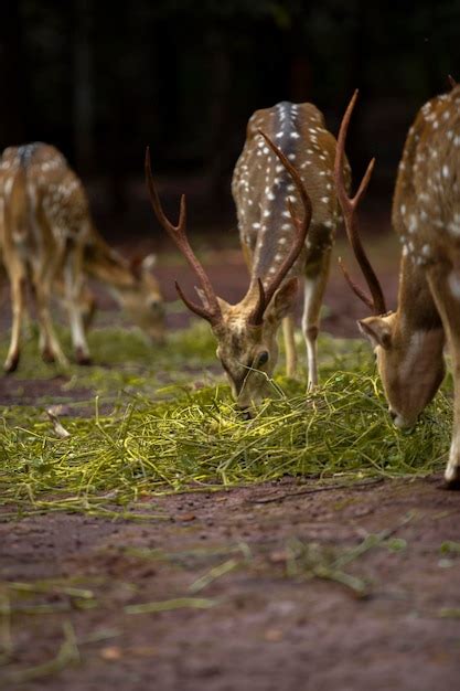
<instances>
[{"instance_id":1,"label":"lowered head of the middle deer with both antlers","mask_svg":"<svg viewBox=\"0 0 460 691\"><path fill-rule=\"evenodd\" d=\"M275 161L290 177L292 194L288 200L285 196L278 200L278 213L285 225L289 223L291 233L285 233L282 248L271 251L275 256L268 270L259 275L253 272L249 288L237 305L229 305L216 296L189 244L184 196L181 199L178 225L173 225L164 215L153 182L149 151L146 157L146 177L153 211L193 269L200 284L197 293L201 304L186 297L179 284L175 284L176 290L190 310L210 322L217 339L217 357L240 408L249 407L268 391L268 380L278 358L277 329L280 320L292 309L297 294L297 278L291 277L289 272L302 253L311 220L310 200L299 173L266 135L260 132L259 138L267 150L269 148L274 152L274 177ZM270 192L268 195L275 200ZM302 217L295 205L302 209Z\"/></svg>"}]
</instances>

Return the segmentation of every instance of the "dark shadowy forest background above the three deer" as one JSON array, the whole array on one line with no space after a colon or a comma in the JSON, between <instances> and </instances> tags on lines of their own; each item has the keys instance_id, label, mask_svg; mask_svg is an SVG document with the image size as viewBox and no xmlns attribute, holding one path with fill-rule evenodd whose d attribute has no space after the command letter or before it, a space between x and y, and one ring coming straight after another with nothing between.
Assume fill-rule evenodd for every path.
<instances>
[{"instance_id":1,"label":"dark shadowy forest background above the three deer","mask_svg":"<svg viewBox=\"0 0 460 691\"><path fill-rule=\"evenodd\" d=\"M356 177L389 203L417 109L460 77L460 2L2 0L0 146L56 145L113 232L151 228L152 149L167 199L194 221L233 215L229 179L254 109L312 100L336 132L353 89ZM7 20L8 18L8 20ZM171 194L170 194L171 193ZM114 221L115 220L115 221ZM118 230L117 230L118 228Z\"/></svg>"}]
</instances>

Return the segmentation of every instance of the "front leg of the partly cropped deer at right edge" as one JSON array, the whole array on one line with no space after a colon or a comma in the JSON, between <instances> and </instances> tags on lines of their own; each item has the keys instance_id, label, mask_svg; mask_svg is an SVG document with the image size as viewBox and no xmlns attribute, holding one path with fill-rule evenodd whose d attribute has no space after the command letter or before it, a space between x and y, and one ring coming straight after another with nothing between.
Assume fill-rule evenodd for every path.
<instances>
[{"instance_id":1,"label":"front leg of the partly cropped deer at right edge","mask_svg":"<svg viewBox=\"0 0 460 691\"><path fill-rule=\"evenodd\" d=\"M445 478L450 487L460 488L460 266L451 270L436 267L428 275L428 284L452 358L453 430Z\"/></svg>"}]
</instances>

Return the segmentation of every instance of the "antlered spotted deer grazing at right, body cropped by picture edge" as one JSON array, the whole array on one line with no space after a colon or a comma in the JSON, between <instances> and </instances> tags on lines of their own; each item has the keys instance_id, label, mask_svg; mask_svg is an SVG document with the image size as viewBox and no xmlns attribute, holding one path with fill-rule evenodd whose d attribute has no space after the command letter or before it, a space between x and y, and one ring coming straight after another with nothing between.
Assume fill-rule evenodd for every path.
<instances>
[{"instance_id":1,"label":"antlered spotted deer grazing at right, body cropped by picture edge","mask_svg":"<svg viewBox=\"0 0 460 691\"><path fill-rule=\"evenodd\" d=\"M359 322L377 355L378 371L398 427L413 426L443 375L445 340L452 355L454 421L446 480L460 482L460 86L429 100L418 113L404 147L393 201L393 224L403 243L398 306L387 312L382 288L357 234L356 205L373 162L354 198L342 179L346 130L356 102L343 117L335 182L349 238L372 298L345 273L374 312Z\"/></svg>"}]
</instances>

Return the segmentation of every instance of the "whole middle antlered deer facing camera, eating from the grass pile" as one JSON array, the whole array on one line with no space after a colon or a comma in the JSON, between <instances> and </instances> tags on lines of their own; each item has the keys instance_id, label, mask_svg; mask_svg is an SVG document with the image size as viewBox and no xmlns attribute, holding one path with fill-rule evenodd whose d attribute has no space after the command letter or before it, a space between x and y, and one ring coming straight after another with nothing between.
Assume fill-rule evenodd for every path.
<instances>
[{"instance_id":1,"label":"whole middle antlered deer facing camera, eating from the grass pile","mask_svg":"<svg viewBox=\"0 0 460 691\"><path fill-rule=\"evenodd\" d=\"M268 378L278 359L276 336L281 321L288 374L296 369L292 310L300 277L304 279L302 328L309 385L318 382L319 315L340 220L333 189L334 156L335 139L325 129L322 114L311 104L280 103L257 110L249 119L246 143L232 181L250 273L249 288L237 305L216 296L193 254L185 234L184 199L178 226L164 216L147 157L146 174L154 213L195 272L202 305L191 302L176 286L179 295L193 312L211 323L217 339L217 357L242 408L267 392ZM350 178L346 162L344 176Z\"/></svg>"}]
</instances>

